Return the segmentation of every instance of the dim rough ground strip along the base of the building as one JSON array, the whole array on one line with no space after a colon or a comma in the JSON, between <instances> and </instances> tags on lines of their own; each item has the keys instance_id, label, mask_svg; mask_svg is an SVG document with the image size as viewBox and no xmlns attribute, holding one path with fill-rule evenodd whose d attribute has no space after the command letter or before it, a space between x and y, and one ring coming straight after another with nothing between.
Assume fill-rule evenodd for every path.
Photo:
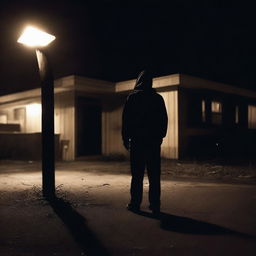
<instances>
[{"instance_id":1,"label":"dim rough ground strip along the base of the building","mask_svg":"<svg viewBox=\"0 0 256 256\"><path fill-rule=\"evenodd\" d=\"M0 161L0 172L13 170L35 171L41 169L40 162ZM77 170L87 172L129 174L129 162L113 158L88 158L86 160L57 162L56 170ZM178 161L162 160L162 179L197 179L224 183L256 184L256 163L254 161Z\"/></svg>"}]
</instances>

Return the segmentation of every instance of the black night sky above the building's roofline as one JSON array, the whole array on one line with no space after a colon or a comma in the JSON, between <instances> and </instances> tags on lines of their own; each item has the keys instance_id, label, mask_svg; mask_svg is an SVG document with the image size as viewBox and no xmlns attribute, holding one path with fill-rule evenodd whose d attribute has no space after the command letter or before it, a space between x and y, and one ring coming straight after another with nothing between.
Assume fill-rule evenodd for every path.
<instances>
[{"instance_id":1,"label":"black night sky above the building's roofline","mask_svg":"<svg viewBox=\"0 0 256 256\"><path fill-rule=\"evenodd\" d=\"M56 36L46 50L55 78L121 81L150 66L154 76L185 73L256 90L253 10L124 2L1 1L0 95L40 86L34 51L16 42L27 24Z\"/></svg>"}]
</instances>

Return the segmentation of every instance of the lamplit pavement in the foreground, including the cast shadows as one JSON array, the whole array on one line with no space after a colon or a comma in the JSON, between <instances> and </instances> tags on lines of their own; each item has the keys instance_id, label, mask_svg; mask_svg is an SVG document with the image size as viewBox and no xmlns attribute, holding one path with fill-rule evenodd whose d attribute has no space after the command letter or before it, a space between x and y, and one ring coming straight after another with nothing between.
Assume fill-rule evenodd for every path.
<instances>
[{"instance_id":1,"label":"lamplit pavement in the foreground, including the cast shadows","mask_svg":"<svg viewBox=\"0 0 256 256\"><path fill-rule=\"evenodd\" d=\"M39 170L0 173L0 255L256 255L256 186L162 181L162 214L126 210L130 176L58 169L56 198Z\"/></svg>"}]
</instances>

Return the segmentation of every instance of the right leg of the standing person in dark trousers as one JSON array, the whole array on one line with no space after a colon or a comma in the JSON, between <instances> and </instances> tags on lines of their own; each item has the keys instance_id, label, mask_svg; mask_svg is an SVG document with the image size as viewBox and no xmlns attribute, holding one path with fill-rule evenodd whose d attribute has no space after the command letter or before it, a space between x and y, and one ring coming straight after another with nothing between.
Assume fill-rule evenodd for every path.
<instances>
[{"instance_id":1,"label":"right leg of the standing person in dark trousers","mask_svg":"<svg viewBox=\"0 0 256 256\"><path fill-rule=\"evenodd\" d=\"M149 208L153 212L160 211L160 196L161 196L161 157L160 145L150 145L147 147L147 171L149 179Z\"/></svg>"}]
</instances>

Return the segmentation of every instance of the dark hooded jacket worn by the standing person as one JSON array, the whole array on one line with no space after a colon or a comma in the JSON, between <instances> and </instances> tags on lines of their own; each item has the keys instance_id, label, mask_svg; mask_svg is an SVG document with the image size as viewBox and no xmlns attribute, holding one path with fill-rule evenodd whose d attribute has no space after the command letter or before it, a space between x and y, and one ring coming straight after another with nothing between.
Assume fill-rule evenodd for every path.
<instances>
[{"instance_id":1,"label":"dark hooded jacket worn by the standing person","mask_svg":"<svg viewBox=\"0 0 256 256\"><path fill-rule=\"evenodd\" d=\"M131 140L162 142L167 132L167 112L164 100L152 88L152 78L142 71L134 90L126 99L122 116L124 144Z\"/></svg>"}]
</instances>

